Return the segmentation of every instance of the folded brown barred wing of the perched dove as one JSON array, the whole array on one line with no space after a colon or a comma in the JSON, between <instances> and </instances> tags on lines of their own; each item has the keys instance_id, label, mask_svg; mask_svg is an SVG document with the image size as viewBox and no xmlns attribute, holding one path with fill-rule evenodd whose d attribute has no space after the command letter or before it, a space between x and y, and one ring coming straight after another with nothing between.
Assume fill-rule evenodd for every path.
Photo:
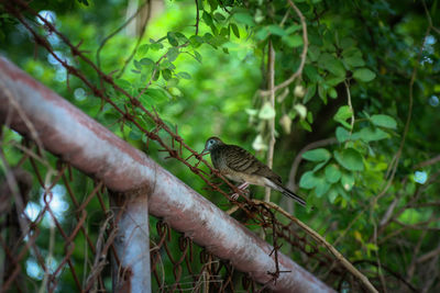
<instances>
[{"instance_id":1,"label":"folded brown barred wing of the perched dove","mask_svg":"<svg viewBox=\"0 0 440 293\"><path fill-rule=\"evenodd\" d=\"M226 165L231 170L248 174L262 176L278 183L282 182L278 174L272 171L271 168L261 162L248 150L234 145L224 145L221 151L223 153L222 155Z\"/></svg>"}]
</instances>

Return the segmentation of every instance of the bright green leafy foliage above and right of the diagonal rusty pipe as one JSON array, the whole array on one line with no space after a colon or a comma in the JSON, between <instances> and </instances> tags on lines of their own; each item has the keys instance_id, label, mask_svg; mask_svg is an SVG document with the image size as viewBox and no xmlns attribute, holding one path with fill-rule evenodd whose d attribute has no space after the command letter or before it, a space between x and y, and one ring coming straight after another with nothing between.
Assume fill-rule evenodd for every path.
<instances>
[{"instance_id":1,"label":"bright green leafy foliage above and right of the diagonal rusty pipe","mask_svg":"<svg viewBox=\"0 0 440 293\"><path fill-rule=\"evenodd\" d=\"M102 43L123 23L124 1L52 2L32 5L52 11L48 20L74 44L81 43L80 49L89 52L90 58L99 49L102 70L113 72L119 87L160 113L195 149L201 150L206 138L218 135L254 148L264 158L270 121L275 119L274 169L286 182L290 180L289 185L297 180L298 192L316 207L297 209L296 215L317 230L324 226L327 238L337 241L350 260L372 261L366 271L375 271L381 262L416 288L427 284L422 273L410 274L408 268L440 240L438 233L424 233L440 228L438 218L427 222L439 212L438 165L422 164L440 150L438 133L432 131L440 122L437 0L296 0L294 4L197 0L197 5L165 1L164 11L148 21L139 46L128 33ZM294 7L305 18L307 38ZM35 47L13 18L2 15L3 55L209 196L201 180L182 164L164 160L160 147L147 145L134 124ZM96 72L76 61L57 36L46 37L55 52L100 84ZM275 84L301 68L305 44L307 48L302 71L276 91L275 108L264 93L270 42L276 54ZM112 88L102 90L152 131L153 123L127 98ZM287 178L289 171L298 171L293 170L293 161L302 147L329 137L336 137L334 144L300 153L301 176ZM13 161L13 153L9 156ZM256 190L255 196L261 193ZM292 204L273 196L282 205ZM220 206L227 203L218 196L211 200ZM438 264L438 255L430 261ZM381 264L377 270L385 273ZM436 284L438 289L439 281L437 277L431 290Z\"/></svg>"}]
</instances>

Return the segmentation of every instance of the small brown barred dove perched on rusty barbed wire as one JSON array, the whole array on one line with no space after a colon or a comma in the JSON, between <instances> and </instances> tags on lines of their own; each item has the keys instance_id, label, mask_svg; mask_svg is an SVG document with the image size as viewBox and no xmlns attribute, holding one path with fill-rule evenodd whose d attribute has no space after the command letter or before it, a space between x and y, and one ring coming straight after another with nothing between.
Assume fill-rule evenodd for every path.
<instances>
[{"instance_id":1,"label":"small brown barred dove perched on rusty barbed wire","mask_svg":"<svg viewBox=\"0 0 440 293\"><path fill-rule=\"evenodd\" d=\"M283 185L277 173L244 148L224 144L219 137L212 136L208 138L201 151L202 155L208 153L211 155L213 167L222 176L242 183L239 189L245 189L249 184L268 187L306 206L304 199ZM238 194L232 198L235 200Z\"/></svg>"}]
</instances>

